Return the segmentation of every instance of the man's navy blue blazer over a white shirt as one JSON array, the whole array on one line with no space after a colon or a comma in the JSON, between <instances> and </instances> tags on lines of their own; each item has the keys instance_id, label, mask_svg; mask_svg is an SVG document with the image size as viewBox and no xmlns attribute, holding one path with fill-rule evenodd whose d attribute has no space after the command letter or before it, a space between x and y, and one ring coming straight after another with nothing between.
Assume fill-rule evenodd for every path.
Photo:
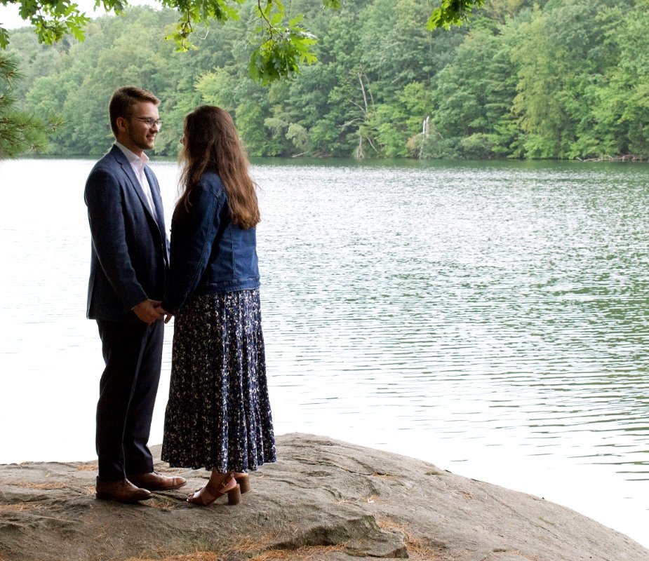
<instances>
[{"instance_id":1,"label":"man's navy blue blazer over a white shirt","mask_svg":"<svg viewBox=\"0 0 649 561\"><path fill-rule=\"evenodd\" d=\"M145 299L161 300L169 263L160 187L145 168L156 216L119 147L95 164L84 199L92 237L88 318L138 320L131 311Z\"/></svg>"}]
</instances>

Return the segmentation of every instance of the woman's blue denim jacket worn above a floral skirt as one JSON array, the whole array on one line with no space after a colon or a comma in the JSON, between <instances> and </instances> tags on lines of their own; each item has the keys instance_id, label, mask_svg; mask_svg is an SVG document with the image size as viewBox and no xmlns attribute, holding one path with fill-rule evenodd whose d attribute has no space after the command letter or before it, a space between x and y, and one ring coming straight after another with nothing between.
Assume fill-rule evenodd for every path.
<instances>
[{"instance_id":1,"label":"woman's blue denim jacket worn above a floral skirt","mask_svg":"<svg viewBox=\"0 0 649 561\"><path fill-rule=\"evenodd\" d=\"M170 275L162 307L178 312L192 297L258 288L255 228L232 224L220 177L207 172L171 219Z\"/></svg>"}]
</instances>

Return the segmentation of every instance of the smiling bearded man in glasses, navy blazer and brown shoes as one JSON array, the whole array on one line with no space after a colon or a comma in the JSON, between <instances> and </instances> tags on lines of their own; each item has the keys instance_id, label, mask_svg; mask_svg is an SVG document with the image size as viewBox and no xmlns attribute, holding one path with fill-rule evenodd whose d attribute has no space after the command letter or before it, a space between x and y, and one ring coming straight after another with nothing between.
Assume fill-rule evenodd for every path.
<instances>
[{"instance_id":1,"label":"smiling bearded man in glasses, navy blazer and brown shoes","mask_svg":"<svg viewBox=\"0 0 649 561\"><path fill-rule=\"evenodd\" d=\"M97 405L96 496L123 503L185 485L156 473L147 442L160 379L168 269L160 188L144 153L160 130L160 100L126 86L109 104L115 144L95 164L85 200L92 236L88 318L97 320L105 370Z\"/></svg>"}]
</instances>

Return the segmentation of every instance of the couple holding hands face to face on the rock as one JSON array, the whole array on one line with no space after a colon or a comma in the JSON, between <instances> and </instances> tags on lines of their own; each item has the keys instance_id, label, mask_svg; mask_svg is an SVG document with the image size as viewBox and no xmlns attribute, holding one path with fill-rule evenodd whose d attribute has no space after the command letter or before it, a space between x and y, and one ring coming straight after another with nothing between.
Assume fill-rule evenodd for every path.
<instances>
[{"instance_id":1,"label":"couple holding hands face to face on the rock","mask_svg":"<svg viewBox=\"0 0 649 561\"><path fill-rule=\"evenodd\" d=\"M239 502L248 471L275 461L261 328L255 184L232 118L201 106L185 118L180 198L166 236L160 189L147 166L161 121L148 90L117 89L115 144L88 176L92 237L88 318L105 370L97 405L98 499L135 503L182 487L154 471L147 447L164 324L175 316L162 459L206 468L189 496Z\"/></svg>"}]
</instances>

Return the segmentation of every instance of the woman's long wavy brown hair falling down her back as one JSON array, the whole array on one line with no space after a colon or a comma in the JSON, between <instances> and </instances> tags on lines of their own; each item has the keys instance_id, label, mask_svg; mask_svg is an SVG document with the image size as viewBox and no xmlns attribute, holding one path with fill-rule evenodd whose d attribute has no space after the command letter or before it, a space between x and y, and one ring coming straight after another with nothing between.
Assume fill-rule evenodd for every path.
<instances>
[{"instance_id":1,"label":"woman's long wavy brown hair falling down her back","mask_svg":"<svg viewBox=\"0 0 649 561\"><path fill-rule=\"evenodd\" d=\"M255 182L248 173L248 156L230 114L213 105L201 105L185 117L180 151L180 197L177 208L191 205L192 189L208 171L225 186L232 222L248 229L261 220Z\"/></svg>"}]
</instances>

